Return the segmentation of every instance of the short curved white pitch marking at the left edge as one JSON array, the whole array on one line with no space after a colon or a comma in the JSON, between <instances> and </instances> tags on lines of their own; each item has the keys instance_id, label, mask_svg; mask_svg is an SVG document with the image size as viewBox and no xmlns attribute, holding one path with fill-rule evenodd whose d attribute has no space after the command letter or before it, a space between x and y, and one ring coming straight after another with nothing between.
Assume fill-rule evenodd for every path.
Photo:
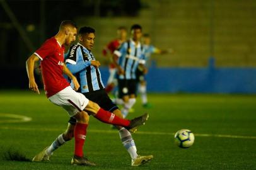
<instances>
[{"instance_id":1,"label":"short curved white pitch marking at the left edge","mask_svg":"<svg viewBox=\"0 0 256 170\"><path fill-rule=\"evenodd\" d=\"M20 122L30 122L32 118L23 115L15 115L9 113L0 113L0 117L11 118L8 120L0 120L0 123L20 123Z\"/></svg>"}]
</instances>

